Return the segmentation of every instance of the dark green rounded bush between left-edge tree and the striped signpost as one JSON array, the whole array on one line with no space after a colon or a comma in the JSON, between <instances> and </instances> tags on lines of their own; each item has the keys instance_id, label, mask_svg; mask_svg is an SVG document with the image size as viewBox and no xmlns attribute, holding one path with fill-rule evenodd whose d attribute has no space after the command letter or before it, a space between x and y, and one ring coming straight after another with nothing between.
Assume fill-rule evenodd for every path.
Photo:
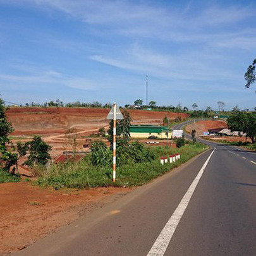
<instances>
[{"instance_id":1,"label":"dark green rounded bush between left-edge tree and the striped signpost","mask_svg":"<svg viewBox=\"0 0 256 256\"><path fill-rule=\"evenodd\" d=\"M35 136L31 142L27 143L27 149L29 150L28 159L23 163L27 166L45 166L47 161L51 159L49 154L51 146L44 142L40 136Z\"/></svg>"}]
</instances>

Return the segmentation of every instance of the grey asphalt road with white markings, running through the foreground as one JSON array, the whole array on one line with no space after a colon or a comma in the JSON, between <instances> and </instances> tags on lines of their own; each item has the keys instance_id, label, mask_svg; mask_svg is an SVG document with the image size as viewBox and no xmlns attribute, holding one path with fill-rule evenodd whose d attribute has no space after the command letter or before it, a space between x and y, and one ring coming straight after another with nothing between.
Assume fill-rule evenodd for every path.
<instances>
[{"instance_id":1,"label":"grey asphalt road with white markings, running through the foreground","mask_svg":"<svg viewBox=\"0 0 256 256\"><path fill-rule=\"evenodd\" d=\"M15 255L256 255L256 154L205 143L185 166Z\"/></svg>"}]
</instances>

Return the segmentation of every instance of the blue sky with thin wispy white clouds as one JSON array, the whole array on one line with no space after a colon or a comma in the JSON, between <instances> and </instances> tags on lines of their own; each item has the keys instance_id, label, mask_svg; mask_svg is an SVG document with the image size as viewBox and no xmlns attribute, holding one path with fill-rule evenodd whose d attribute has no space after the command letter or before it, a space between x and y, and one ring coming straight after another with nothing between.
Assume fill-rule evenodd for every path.
<instances>
[{"instance_id":1,"label":"blue sky with thin wispy white clouds","mask_svg":"<svg viewBox=\"0 0 256 256\"><path fill-rule=\"evenodd\" d=\"M256 1L0 0L0 93L17 103L256 106Z\"/></svg>"}]
</instances>

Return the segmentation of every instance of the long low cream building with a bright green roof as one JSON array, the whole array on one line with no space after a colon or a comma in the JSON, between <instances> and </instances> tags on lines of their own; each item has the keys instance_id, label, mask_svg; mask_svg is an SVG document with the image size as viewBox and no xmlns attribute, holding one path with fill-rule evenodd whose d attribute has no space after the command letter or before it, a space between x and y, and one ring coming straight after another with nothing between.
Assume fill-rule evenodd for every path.
<instances>
[{"instance_id":1,"label":"long low cream building with a bright green roof","mask_svg":"<svg viewBox=\"0 0 256 256\"><path fill-rule=\"evenodd\" d=\"M171 138L173 131L166 126L157 125L131 125L130 126L131 138L149 138L156 136L158 138Z\"/></svg>"}]
</instances>

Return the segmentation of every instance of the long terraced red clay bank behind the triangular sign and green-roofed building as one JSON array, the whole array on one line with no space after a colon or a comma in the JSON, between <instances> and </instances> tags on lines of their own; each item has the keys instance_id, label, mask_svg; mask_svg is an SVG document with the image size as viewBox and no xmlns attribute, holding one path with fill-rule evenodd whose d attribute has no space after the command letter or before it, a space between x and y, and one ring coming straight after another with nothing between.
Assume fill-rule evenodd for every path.
<instances>
[{"instance_id":1,"label":"long terraced red clay bank behind the triangular sign and green-roofed building","mask_svg":"<svg viewBox=\"0 0 256 256\"><path fill-rule=\"evenodd\" d=\"M165 115L170 119L185 113L129 110L133 123L162 123ZM65 133L68 128L78 131L92 130L108 125L109 109L82 107L11 107L7 111L15 131L13 135Z\"/></svg>"}]
</instances>

